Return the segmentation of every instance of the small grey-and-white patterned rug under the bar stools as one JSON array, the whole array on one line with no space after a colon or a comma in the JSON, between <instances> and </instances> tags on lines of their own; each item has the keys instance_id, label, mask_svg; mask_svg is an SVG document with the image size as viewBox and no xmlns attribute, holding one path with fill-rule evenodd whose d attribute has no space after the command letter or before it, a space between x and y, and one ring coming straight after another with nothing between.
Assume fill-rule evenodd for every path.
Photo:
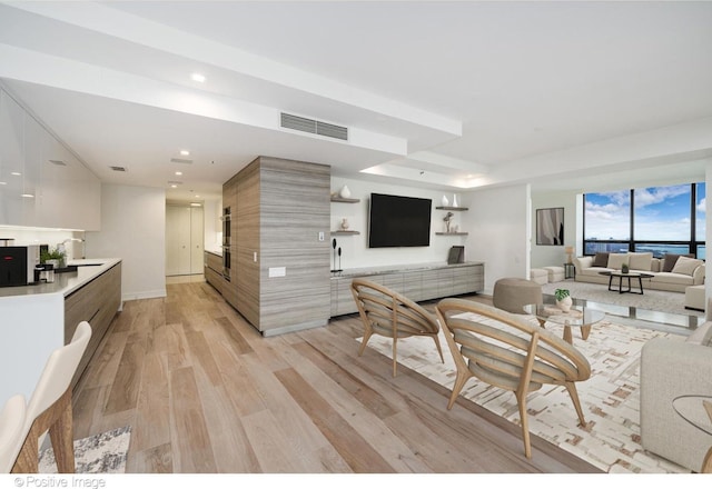
<instances>
[{"instance_id":1,"label":"small grey-and-white patterned rug under the bar stools","mask_svg":"<svg viewBox=\"0 0 712 489\"><path fill-rule=\"evenodd\" d=\"M131 427L126 426L75 440L76 473L123 473L130 439ZM51 447L40 451L39 472L57 473Z\"/></svg>"}]
</instances>

